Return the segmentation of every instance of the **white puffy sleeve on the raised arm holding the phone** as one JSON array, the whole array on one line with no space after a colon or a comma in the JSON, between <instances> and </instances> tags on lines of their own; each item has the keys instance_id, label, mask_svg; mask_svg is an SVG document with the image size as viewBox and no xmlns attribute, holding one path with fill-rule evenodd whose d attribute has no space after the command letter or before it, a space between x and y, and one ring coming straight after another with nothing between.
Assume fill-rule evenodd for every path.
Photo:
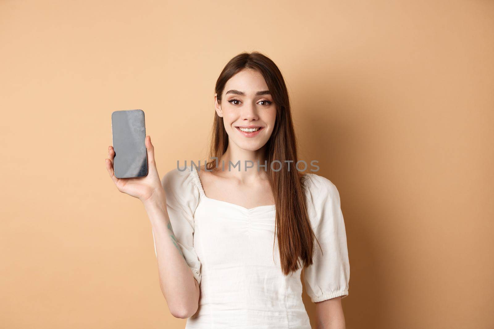
<instances>
[{"instance_id":1,"label":"white puffy sleeve on the raised arm holding the phone","mask_svg":"<svg viewBox=\"0 0 494 329\"><path fill-rule=\"evenodd\" d=\"M178 246L194 278L201 284L201 262L194 250L194 212L199 204L199 189L193 181L190 169L182 172L175 168L165 174L161 183L166 194L166 209L171 228ZM156 242L155 254L158 256Z\"/></svg>"}]
</instances>

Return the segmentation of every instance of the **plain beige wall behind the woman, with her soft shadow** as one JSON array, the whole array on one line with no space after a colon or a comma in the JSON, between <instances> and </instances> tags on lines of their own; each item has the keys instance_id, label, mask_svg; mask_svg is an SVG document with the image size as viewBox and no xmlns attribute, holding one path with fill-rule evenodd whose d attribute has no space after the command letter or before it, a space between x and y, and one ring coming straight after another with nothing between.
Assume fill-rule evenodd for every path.
<instances>
[{"instance_id":1,"label":"plain beige wall behind the woman, with her soft shadow","mask_svg":"<svg viewBox=\"0 0 494 329\"><path fill-rule=\"evenodd\" d=\"M0 1L0 327L185 326L111 112L145 111L161 176L205 159L214 82L258 50L340 191L347 328L494 328L494 2L180 2Z\"/></svg>"}]
</instances>

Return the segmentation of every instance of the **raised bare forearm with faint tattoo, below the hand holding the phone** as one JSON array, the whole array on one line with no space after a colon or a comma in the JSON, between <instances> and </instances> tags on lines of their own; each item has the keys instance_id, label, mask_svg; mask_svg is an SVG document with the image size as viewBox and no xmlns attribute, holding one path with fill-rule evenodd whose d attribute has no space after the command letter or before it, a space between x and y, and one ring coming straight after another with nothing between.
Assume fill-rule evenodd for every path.
<instances>
[{"instance_id":1,"label":"raised bare forearm with faint tattoo, below the hand holding the phone","mask_svg":"<svg viewBox=\"0 0 494 329\"><path fill-rule=\"evenodd\" d=\"M166 211L165 193L144 203L156 244L160 287L171 314L192 316L198 307L199 287L176 241Z\"/></svg>"}]
</instances>

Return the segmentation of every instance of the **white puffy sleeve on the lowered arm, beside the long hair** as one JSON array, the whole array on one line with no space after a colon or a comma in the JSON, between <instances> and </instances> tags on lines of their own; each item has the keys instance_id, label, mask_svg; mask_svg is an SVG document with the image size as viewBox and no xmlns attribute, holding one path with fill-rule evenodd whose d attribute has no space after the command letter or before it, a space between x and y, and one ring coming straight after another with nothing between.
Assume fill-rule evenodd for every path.
<instances>
[{"instance_id":1,"label":"white puffy sleeve on the lowered arm, beside the long hair","mask_svg":"<svg viewBox=\"0 0 494 329\"><path fill-rule=\"evenodd\" d=\"M304 269L305 290L312 302L344 298L348 295L350 263L339 192L322 176L306 176L308 213L322 252L314 240L313 264Z\"/></svg>"}]
</instances>

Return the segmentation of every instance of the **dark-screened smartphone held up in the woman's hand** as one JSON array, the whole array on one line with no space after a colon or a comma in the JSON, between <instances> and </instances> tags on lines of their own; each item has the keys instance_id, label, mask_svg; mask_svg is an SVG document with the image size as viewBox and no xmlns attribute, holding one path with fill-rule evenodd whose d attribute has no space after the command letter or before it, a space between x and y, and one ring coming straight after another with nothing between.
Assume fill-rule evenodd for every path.
<instances>
[{"instance_id":1,"label":"dark-screened smartphone held up in the woman's hand","mask_svg":"<svg viewBox=\"0 0 494 329\"><path fill-rule=\"evenodd\" d=\"M117 178L143 177L148 174L146 127L143 110L112 113L112 139L115 157L113 170Z\"/></svg>"}]
</instances>

